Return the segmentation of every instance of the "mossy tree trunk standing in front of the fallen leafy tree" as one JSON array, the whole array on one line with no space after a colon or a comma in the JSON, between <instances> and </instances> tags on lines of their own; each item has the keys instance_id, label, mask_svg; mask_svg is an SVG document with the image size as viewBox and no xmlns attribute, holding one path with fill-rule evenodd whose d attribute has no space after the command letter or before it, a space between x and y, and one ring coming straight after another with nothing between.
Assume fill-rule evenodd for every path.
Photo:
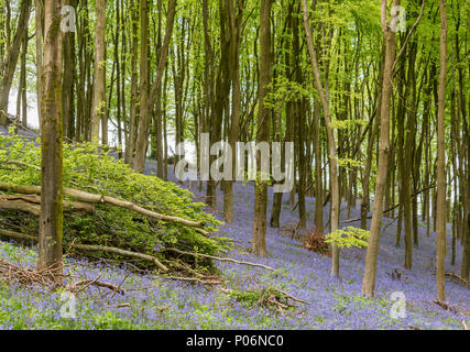
<instances>
[{"instance_id":1,"label":"mossy tree trunk standing in front of the fallen leafy tree","mask_svg":"<svg viewBox=\"0 0 470 352\"><path fill-rule=\"evenodd\" d=\"M63 136L61 1L44 1L41 116L41 218L39 270L62 283Z\"/></svg>"}]
</instances>

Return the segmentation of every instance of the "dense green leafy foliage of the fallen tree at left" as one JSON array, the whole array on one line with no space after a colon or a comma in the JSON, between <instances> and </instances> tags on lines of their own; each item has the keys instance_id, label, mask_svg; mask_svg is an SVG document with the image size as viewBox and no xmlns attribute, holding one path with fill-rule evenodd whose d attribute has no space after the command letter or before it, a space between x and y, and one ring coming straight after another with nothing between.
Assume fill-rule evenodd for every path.
<instances>
[{"instance_id":1,"label":"dense green leafy foliage of the fallen tree at left","mask_svg":"<svg viewBox=\"0 0 470 352\"><path fill-rule=\"evenodd\" d=\"M11 131L12 132L12 131ZM36 145L35 145L36 144ZM26 143L18 135L0 135L0 182L15 185L41 185L40 143ZM22 165L9 164L20 161ZM211 215L203 212L204 204L193 202L193 194L173 183L154 176L134 173L112 155L96 152L96 146L85 143L64 146L64 187L110 196L138 204L149 210L203 221L210 231L220 224ZM32 216L8 213L10 222L21 226L35 235L39 221ZM64 242L110 245L163 257L159 252L165 246L199 253L216 254L225 248L225 239L208 239L192 228L157 221L113 207L97 205L94 215L64 213ZM118 255L98 253L119 260ZM189 260L189 258L188 258ZM199 265L203 261L199 261ZM208 261L206 261L208 264Z\"/></svg>"}]
</instances>

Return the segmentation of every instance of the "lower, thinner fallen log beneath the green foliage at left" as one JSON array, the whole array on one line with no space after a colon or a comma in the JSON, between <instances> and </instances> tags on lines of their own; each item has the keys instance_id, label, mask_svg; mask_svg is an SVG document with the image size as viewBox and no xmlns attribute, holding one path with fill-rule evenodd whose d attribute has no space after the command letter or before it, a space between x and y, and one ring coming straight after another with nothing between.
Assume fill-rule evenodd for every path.
<instances>
[{"instance_id":1,"label":"lower, thinner fallen log beneath the green foliage at left","mask_svg":"<svg viewBox=\"0 0 470 352\"><path fill-rule=\"evenodd\" d=\"M9 231L9 230L3 230L3 229L0 229L0 235L4 235L4 237L18 239L18 240L26 240L26 241L37 242L37 238L35 238L33 235L29 235L29 234L24 234L24 233L18 233L18 232L13 232L13 231ZM64 246L66 244L64 243ZM168 271L168 268L165 265L163 265L159 261L159 258L156 258L155 256L152 256L152 255L147 255L147 254L135 253L135 252L131 252L131 251L127 251L127 250L121 250L121 249L113 248L113 246L106 246L106 245L92 245L92 244L76 244L76 243L72 243L69 246L70 248L75 248L77 250L83 250L83 251L107 252L107 253L114 253L114 254L119 254L119 255L123 255L123 256L136 257L136 258L141 258L141 260L154 263L156 266L159 266L164 272Z\"/></svg>"}]
</instances>

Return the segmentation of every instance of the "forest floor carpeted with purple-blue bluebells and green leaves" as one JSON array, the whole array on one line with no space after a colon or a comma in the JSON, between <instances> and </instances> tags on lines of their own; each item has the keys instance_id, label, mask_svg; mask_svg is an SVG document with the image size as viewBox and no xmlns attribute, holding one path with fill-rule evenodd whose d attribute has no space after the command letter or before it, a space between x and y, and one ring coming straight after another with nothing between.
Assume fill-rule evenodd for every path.
<instances>
[{"instance_id":1,"label":"forest floor carpeted with purple-blue bluebells and green leaves","mask_svg":"<svg viewBox=\"0 0 470 352\"><path fill-rule=\"evenodd\" d=\"M147 163L146 174L154 174ZM171 169L171 167L168 168ZM173 173L168 172L172 179ZM188 188L188 185L185 185ZM201 194L190 188L196 201ZM124 294L89 287L78 294L76 317L62 318L64 297L61 292L46 288L23 287L0 280L1 329L463 329L470 326L470 290L455 282L446 280L447 301L450 309L434 302L436 297L435 243L431 232L426 237L425 224L419 227L419 245L414 248L413 270L403 270L404 249L395 248L396 222L382 233L379 250L376 290L374 298L360 295L365 250L341 251L340 278L330 277L330 257L303 248L298 239L291 239L288 229L295 228L297 212L291 212L284 196L281 226L269 228L267 257L249 253L253 217L254 189L251 183L234 185L234 221L223 224L220 235L234 240L234 246L225 256L261 263L274 268L217 262L222 285L201 285L162 278L152 274L136 274L109 263L87 263L66 257L68 274L80 274L90 279L121 285ZM218 191L219 206L222 205ZM198 198L199 197L199 198ZM270 191L270 206L272 194ZM311 213L315 199L307 198ZM346 205L341 219L346 219ZM269 207L271 208L271 207ZM325 208L325 220L328 217ZM215 212L221 219L221 212ZM270 217L270 215L269 215ZM359 217L358 208L350 218ZM386 226L391 219L384 218ZM350 223L348 226L351 226ZM353 223L359 226L359 223ZM448 229L450 233L450 228ZM450 253L450 237L449 253ZM458 250L457 263L461 251ZM447 256L446 272L458 273L458 264L450 265ZM0 241L0 260L34 267L37 253L34 249ZM402 273L401 279L392 272ZM305 302L292 301L295 307L285 309L260 299L270 289L283 290ZM258 293L252 295L251 293ZM402 292L406 297L406 317L394 319L391 309L396 301L392 294ZM70 302L70 300L68 300ZM282 306L282 305L281 305Z\"/></svg>"}]
</instances>

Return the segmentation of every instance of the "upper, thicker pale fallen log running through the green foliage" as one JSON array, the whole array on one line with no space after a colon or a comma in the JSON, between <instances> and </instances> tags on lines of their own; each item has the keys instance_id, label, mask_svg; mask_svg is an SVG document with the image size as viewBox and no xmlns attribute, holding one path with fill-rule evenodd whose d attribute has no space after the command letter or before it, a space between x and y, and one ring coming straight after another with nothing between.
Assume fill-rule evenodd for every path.
<instances>
[{"instance_id":1,"label":"upper, thicker pale fallen log running through the green foliage","mask_svg":"<svg viewBox=\"0 0 470 352\"><path fill-rule=\"evenodd\" d=\"M24 194L24 195L41 195L41 187L40 186L10 185L7 183L0 183L0 189L6 190L6 191ZM120 200L120 199L117 199L113 197L108 197L108 196L89 194L89 193L78 190L78 189L73 189L73 188L64 188L64 195L67 195L70 198L77 199L77 200L83 201L83 202L109 204L109 205L117 206L120 208L130 209L130 210L133 210L140 215L145 216L145 217L153 218L156 220L162 220L162 221L181 223L183 226L194 228L196 231L198 231L199 233L201 233L206 237L209 235L208 231L201 229L204 227L204 223L201 221L193 221L193 220L187 220L187 219L183 219L179 217L172 217L172 216L162 215L162 213L142 208L142 207L140 207L140 206L138 206L131 201Z\"/></svg>"}]
</instances>

